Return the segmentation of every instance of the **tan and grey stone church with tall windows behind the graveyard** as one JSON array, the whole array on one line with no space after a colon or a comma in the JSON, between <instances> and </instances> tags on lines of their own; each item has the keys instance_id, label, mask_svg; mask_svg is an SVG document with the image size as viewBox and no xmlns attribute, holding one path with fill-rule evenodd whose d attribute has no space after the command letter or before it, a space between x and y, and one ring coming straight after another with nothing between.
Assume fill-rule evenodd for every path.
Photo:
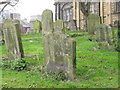
<instances>
[{"instance_id":1,"label":"tan and grey stone church with tall windows behind the graveyard","mask_svg":"<svg viewBox=\"0 0 120 90\"><path fill-rule=\"evenodd\" d=\"M63 20L65 27L69 28L69 22L75 20L77 29L86 29L86 16L81 11L80 2L61 2L55 0L55 20ZM120 1L119 2L91 2L90 14L97 14L101 18L101 23L115 25L120 18Z\"/></svg>"}]
</instances>

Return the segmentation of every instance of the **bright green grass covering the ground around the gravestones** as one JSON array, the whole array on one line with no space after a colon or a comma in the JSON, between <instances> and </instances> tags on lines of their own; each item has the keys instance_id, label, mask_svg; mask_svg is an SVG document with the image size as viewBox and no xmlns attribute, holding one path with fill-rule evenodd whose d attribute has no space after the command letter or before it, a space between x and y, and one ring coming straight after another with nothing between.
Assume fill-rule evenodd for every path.
<instances>
[{"instance_id":1,"label":"bright green grass covering the ground around the gravestones","mask_svg":"<svg viewBox=\"0 0 120 90\"><path fill-rule=\"evenodd\" d=\"M77 42L76 46L76 80L56 81L41 73L44 65L42 35L22 35L24 60L28 69L15 71L3 67L2 86L12 88L117 88L118 87L118 52L105 49L94 51L96 42L88 40L85 32L66 32ZM2 55L6 56L5 46ZM38 56L32 56L32 55ZM31 56L29 56L31 55ZM3 63L6 61L3 61Z\"/></svg>"}]
</instances>

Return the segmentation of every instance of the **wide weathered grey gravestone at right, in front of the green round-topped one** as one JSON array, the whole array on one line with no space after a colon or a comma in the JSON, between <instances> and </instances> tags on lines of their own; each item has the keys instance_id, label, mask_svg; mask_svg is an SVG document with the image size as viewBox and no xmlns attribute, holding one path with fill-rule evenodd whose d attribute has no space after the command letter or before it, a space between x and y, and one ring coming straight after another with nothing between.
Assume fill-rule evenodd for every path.
<instances>
[{"instance_id":1,"label":"wide weathered grey gravestone at right, in front of the green round-topped one","mask_svg":"<svg viewBox=\"0 0 120 90\"><path fill-rule=\"evenodd\" d=\"M95 40L100 43L103 48L111 48L113 46L113 31L107 24L100 24L94 32Z\"/></svg>"}]
</instances>

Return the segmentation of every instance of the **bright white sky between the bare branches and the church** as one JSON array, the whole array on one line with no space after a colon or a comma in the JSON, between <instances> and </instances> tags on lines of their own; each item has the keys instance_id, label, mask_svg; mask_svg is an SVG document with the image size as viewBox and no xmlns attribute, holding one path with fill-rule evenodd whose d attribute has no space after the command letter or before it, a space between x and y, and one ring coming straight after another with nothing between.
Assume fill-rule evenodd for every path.
<instances>
[{"instance_id":1,"label":"bright white sky between the bare branches and the church","mask_svg":"<svg viewBox=\"0 0 120 90\"><path fill-rule=\"evenodd\" d=\"M13 11L20 13L22 19L30 19L32 15L41 15L45 9L50 9L54 13L54 0L20 0Z\"/></svg>"}]
</instances>

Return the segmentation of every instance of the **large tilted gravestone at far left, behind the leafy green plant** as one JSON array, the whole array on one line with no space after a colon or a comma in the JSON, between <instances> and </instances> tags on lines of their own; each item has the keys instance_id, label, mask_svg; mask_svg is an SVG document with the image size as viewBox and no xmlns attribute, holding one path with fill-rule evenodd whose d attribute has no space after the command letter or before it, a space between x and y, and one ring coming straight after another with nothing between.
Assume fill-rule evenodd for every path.
<instances>
[{"instance_id":1,"label":"large tilted gravestone at far left, behind the leafy green plant","mask_svg":"<svg viewBox=\"0 0 120 90\"><path fill-rule=\"evenodd\" d=\"M3 25L4 39L10 60L24 57L19 25L19 21L10 19L5 20Z\"/></svg>"}]
</instances>

